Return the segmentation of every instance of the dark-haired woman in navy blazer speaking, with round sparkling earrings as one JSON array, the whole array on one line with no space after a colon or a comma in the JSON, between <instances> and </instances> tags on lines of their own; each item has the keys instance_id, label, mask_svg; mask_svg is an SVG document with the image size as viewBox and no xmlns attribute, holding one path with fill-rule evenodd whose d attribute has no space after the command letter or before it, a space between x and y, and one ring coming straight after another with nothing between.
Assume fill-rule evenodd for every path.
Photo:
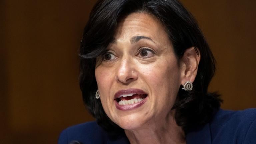
<instances>
[{"instance_id":1,"label":"dark-haired woman in navy blazer speaking, with round sparkling earrings","mask_svg":"<svg viewBox=\"0 0 256 144\"><path fill-rule=\"evenodd\" d=\"M96 122L59 144L254 143L256 111L219 110L215 60L176 0L100 0L84 29L80 88Z\"/></svg>"}]
</instances>

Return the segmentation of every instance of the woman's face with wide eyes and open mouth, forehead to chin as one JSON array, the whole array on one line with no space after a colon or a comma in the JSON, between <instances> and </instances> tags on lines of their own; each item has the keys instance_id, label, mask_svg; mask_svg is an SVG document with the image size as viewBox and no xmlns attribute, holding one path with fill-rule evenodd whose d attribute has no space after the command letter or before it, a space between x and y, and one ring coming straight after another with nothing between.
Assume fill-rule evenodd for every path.
<instances>
[{"instance_id":1,"label":"woman's face with wide eyes and open mouth, forehead to chin","mask_svg":"<svg viewBox=\"0 0 256 144\"><path fill-rule=\"evenodd\" d=\"M170 116L181 70L165 28L153 16L132 13L119 22L95 76L108 117L127 130L161 124Z\"/></svg>"}]
</instances>

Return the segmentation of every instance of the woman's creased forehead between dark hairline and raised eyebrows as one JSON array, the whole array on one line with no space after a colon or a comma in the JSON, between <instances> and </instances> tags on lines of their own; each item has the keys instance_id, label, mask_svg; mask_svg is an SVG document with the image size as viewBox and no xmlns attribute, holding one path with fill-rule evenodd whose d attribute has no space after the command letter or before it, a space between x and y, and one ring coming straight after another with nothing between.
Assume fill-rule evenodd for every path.
<instances>
[{"instance_id":1,"label":"woman's creased forehead between dark hairline and raised eyebrows","mask_svg":"<svg viewBox=\"0 0 256 144\"><path fill-rule=\"evenodd\" d=\"M118 22L114 38L121 40L136 35L150 37L153 40L166 41L168 35L161 22L146 12L135 12Z\"/></svg>"}]
</instances>

